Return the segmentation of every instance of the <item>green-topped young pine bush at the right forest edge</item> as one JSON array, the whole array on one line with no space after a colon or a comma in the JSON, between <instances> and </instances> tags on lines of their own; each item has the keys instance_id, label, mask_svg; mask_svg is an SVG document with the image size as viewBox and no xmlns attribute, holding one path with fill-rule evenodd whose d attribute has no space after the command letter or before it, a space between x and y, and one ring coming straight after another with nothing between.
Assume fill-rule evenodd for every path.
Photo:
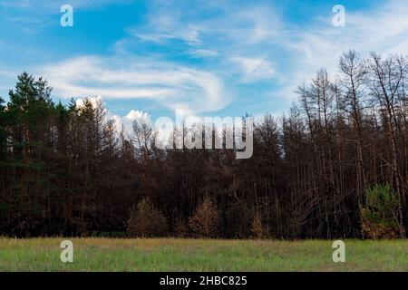
<instances>
[{"instance_id":1,"label":"green-topped young pine bush at the right forest edge","mask_svg":"<svg viewBox=\"0 0 408 290\"><path fill-rule=\"evenodd\" d=\"M399 201L389 184L377 184L365 191L365 207L360 208L364 236L398 237Z\"/></svg>"}]
</instances>

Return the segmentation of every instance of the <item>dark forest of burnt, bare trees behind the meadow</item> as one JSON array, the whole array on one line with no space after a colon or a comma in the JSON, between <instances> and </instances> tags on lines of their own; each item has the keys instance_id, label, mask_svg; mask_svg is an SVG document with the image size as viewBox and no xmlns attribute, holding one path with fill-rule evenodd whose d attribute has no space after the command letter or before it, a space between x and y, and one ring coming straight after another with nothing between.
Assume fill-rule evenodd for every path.
<instances>
[{"instance_id":1,"label":"dark forest of burnt, bare trees behind the meadow","mask_svg":"<svg viewBox=\"0 0 408 290\"><path fill-rule=\"evenodd\" d=\"M0 98L0 236L404 238L407 76L404 56L346 52L237 160L160 150L148 123L118 131L102 105L53 102L22 73Z\"/></svg>"}]
</instances>

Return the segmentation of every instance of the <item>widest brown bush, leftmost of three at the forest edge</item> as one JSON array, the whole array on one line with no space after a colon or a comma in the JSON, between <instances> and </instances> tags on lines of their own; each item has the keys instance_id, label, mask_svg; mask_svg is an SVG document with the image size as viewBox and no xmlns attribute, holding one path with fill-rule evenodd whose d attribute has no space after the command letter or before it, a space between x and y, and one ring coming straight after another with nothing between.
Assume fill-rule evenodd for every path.
<instances>
[{"instance_id":1,"label":"widest brown bush, leftmost of three at the forest edge","mask_svg":"<svg viewBox=\"0 0 408 290\"><path fill-rule=\"evenodd\" d=\"M127 230L130 237L160 237L168 231L167 219L153 207L149 198L142 198L129 211Z\"/></svg>"}]
</instances>

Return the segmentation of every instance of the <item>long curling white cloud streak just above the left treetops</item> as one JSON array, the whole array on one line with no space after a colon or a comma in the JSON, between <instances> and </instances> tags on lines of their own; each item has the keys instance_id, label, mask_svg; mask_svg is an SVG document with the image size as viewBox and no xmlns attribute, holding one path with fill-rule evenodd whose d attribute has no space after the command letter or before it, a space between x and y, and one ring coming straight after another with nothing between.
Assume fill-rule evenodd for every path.
<instances>
[{"instance_id":1,"label":"long curling white cloud streak just above the left treetops","mask_svg":"<svg viewBox=\"0 0 408 290\"><path fill-rule=\"evenodd\" d=\"M83 56L46 65L39 72L63 98L143 98L195 112L217 111L228 103L215 74L152 60Z\"/></svg>"}]
</instances>

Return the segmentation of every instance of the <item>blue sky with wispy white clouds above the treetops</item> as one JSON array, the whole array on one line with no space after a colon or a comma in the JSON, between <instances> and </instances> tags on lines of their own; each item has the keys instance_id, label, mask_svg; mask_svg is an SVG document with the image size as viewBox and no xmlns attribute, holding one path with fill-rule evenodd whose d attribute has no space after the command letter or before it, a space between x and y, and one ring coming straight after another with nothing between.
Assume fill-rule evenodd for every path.
<instances>
[{"instance_id":1,"label":"blue sky with wispy white clouds above the treetops","mask_svg":"<svg viewBox=\"0 0 408 290\"><path fill-rule=\"evenodd\" d=\"M98 96L123 122L278 116L350 49L408 55L408 1L0 0L0 96L26 71L56 102Z\"/></svg>"}]
</instances>

